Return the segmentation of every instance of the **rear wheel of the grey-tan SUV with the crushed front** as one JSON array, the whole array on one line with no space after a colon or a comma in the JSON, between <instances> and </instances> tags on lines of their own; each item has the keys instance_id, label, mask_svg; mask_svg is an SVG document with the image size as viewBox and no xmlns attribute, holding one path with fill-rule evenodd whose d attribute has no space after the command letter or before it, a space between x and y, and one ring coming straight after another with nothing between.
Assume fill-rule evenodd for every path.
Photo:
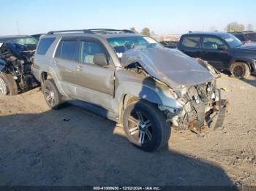
<instances>
[{"instance_id":1,"label":"rear wheel of the grey-tan SUV with the crushed front","mask_svg":"<svg viewBox=\"0 0 256 191\"><path fill-rule=\"evenodd\" d=\"M42 93L45 101L51 109L60 109L61 106L61 94L55 85L53 79L45 80L42 85Z\"/></svg>"}]
</instances>

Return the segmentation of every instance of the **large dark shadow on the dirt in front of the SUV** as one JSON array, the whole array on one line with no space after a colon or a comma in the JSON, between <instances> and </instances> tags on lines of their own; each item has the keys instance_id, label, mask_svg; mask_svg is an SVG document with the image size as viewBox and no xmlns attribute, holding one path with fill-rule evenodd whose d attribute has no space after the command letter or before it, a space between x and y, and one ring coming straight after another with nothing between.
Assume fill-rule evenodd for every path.
<instances>
[{"instance_id":1,"label":"large dark shadow on the dirt in front of the SUV","mask_svg":"<svg viewBox=\"0 0 256 191\"><path fill-rule=\"evenodd\" d=\"M85 190L85 185L151 185L173 186L165 190L174 190L174 186L180 186L177 190L238 190L219 164L171 149L171 142L170 149L166 146L157 156L140 152L127 143L115 122L77 106L58 112L0 116L0 126L4 148L0 152L1 186L40 186L40 190L44 190L42 185L64 186L62 190L69 190L68 185Z\"/></svg>"}]
</instances>

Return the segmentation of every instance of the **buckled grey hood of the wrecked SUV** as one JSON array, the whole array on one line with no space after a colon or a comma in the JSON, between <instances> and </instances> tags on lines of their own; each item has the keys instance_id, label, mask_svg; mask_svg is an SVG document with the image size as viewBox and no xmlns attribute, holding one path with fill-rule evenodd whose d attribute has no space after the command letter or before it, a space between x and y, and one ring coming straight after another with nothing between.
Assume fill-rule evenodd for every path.
<instances>
[{"instance_id":1,"label":"buckled grey hood of the wrecked SUV","mask_svg":"<svg viewBox=\"0 0 256 191\"><path fill-rule=\"evenodd\" d=\"M152 77L173 89L200 85L215 78L209 66L204 66L179 50L146 48L124 52L121 58L123 67L135 62L140 63Z\"/></svg>"}]
</instances>

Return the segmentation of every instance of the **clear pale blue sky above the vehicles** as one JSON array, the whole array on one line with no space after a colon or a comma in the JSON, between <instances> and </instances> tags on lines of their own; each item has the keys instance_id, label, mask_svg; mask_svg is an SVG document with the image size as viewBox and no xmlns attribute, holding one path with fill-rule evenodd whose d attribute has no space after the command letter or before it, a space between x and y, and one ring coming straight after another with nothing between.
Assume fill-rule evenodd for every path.
<instances>
[{"instance_id":1,"label":"clear pale blue sky above the vehicles","mask_svg":"<svg viewBox=\"0 0 256 191\"><path fill-rule=\"evenodd\" d=\"M1 0L0 12L0 36L130 27L184 34L224 31L234 21L256 29L255 0Z\"/></svg>"}]
</instances>

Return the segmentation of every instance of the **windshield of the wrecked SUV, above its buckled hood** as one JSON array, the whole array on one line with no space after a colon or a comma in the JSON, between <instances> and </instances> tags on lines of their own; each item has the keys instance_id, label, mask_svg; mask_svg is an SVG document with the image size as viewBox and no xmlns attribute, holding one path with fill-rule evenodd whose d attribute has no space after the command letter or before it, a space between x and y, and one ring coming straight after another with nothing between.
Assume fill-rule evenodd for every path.
<instances>
[{"instance_id":1,"label":"windshield of the wrecked SUV, above its buckled hood","mask_svg":"<svg viewBox=\"0 0 256 191\"><path fill-rule=\"evenodd\" d=\"M119 37L108 39L113 49L116 51L118 58L130 49L143 49L147 47L163 47L154 39L146 36Z\"/></svg>"}]
</instances>

